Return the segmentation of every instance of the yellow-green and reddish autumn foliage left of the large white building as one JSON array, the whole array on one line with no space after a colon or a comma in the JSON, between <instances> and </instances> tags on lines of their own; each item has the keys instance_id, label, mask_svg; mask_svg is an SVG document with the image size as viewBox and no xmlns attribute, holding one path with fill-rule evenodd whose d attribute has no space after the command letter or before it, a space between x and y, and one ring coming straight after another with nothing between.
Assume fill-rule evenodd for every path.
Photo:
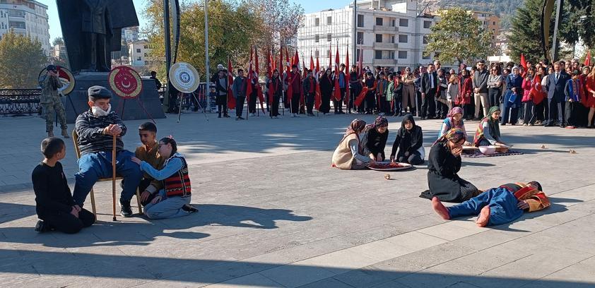
<instances>
[{"instance_id":1,"label":"yellow-green and reddish autumn foliage left of the large white building","mask_svg":"<svg viewBox=\"0 0 595 288\"><path fill-rule=\"evenodd\" d=\"M204 2L182 1L180 10L181 36L177 61L192 64L204 75ZM153 23L142 31L150 43L151 55L157 60L150 66L160 75L165 75L163 0L149 1L143 14L148 23ZM231 57L234 68L244 66L249 60L252 45L261 50L260 63L264 68L267 47L273 43L278 46L275 31L281 31L281 37L297 34L302 14L302 8L289 5L288 0L208 1L210 68L216 68L217 64L223 64L227 68L228 56Z\"/></svg>"}]
</instances>

